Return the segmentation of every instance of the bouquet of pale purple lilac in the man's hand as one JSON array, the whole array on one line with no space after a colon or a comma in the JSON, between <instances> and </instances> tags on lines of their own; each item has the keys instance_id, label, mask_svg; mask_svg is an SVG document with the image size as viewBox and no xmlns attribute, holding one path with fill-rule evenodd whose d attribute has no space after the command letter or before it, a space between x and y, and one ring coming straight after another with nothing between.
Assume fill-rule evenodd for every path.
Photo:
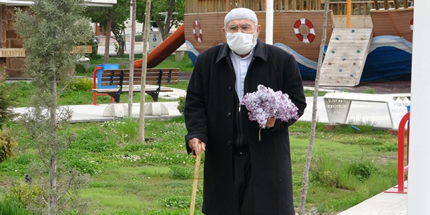
<instances>
[{"instance_id":1,"label":"bouquet of pale purple lilac in the man's hand","mask_svg":"<svg viewBox=\"0 0 430 215\"><path fill-rule=\"evenodd\" d=\"M257 91L246 93L241 105L249 110L249 119L257 121L260 128L266 127L267 119L275 117L283 122L290 119L299 119L298 108L291 102L288 94L282 91L273 91L272 88L263 85L257 86Z\"/></svg>"}]
</instances>

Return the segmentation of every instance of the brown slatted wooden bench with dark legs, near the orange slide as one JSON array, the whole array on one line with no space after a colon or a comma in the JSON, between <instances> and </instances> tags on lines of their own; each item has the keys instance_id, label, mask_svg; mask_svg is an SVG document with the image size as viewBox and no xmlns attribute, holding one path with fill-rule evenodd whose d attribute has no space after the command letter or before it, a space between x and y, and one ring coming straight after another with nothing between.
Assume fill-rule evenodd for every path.
<instances>
[{"instance_id":1,"label":"brown slatted wooden bench with dark legs, near the orange slide","mask_svg":"<svg viewBox=\"0 0 430 215\"><path fill-rule=\"evenodd\" d=\"M172 88L161 85L173 85L178 83L179 68L149 68L147 69L145 93L152 97L154 102L158 101L160 92L172 92ZM142 69L134 69L133 92L140 92ZM96 105L96 96L109 95L111 102L119 103L121 93L129 92L129 69L102 69L98 66L94 69L93 76L93 101ZM97 80L97 82L96 82ZM113 101L112 101L113 100Z\"/></svg>"}]
</instances>

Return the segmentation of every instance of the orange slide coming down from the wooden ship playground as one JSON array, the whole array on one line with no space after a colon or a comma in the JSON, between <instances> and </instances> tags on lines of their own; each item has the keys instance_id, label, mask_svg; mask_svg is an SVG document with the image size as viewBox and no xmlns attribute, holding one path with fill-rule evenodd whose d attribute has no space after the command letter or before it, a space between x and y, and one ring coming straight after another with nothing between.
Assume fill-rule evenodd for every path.
<instances>
[{"instance_id":1,"label":"orange slide coming down from the wooden ship playground","mask_svg":"<svg viewBox=\"0 0 430 215\"><path fill-rule=\"evenodd\" d=\"M176 49L185 43L184 25L182 24L169 37L148 54L147 68L160 64ZM142 59L134 61L134 68L142 68Z\"/></svg>"}]
</instances>

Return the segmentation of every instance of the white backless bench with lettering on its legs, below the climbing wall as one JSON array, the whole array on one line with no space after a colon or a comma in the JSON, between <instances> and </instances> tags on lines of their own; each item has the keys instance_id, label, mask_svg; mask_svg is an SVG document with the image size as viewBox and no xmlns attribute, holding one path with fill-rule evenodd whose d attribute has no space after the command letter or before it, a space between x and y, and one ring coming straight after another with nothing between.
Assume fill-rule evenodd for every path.
<instances>
[{"instance_id":1,"label":"white backless bench with lettering on its legs, below the climbing wall","mask_svg":"<svg viewBox=\"0 0 430 215\"><path fill-rule=\"evenodd\" d=\"M351 107L352 101L387 104L391 128L398 129L400 120L408 112L407 106L410 105L410 93L327 93L324 95L324 106L327 112L329 124L347 124L346 119L348 118L349 108Z\"/></svg>"}]
</instances>

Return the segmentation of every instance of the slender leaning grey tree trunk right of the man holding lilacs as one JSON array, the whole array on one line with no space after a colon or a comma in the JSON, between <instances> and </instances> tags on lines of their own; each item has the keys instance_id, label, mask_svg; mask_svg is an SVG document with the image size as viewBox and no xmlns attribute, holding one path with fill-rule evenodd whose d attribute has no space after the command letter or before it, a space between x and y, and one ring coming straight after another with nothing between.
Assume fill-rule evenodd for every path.
<instances>
[{"instance_id":1,"label":"slender leaning grey tree trunk right of the man holding lilacs","mask_svg":"<svg viewBox=\"0 0 430 215\"><path fill-rule=\"evenodd\" d=\"M321 74L321 65L323 64L323 53L324 53L324 45L327 37L327 14L329 11L329 3L330 0L325 0L324 4L324 18L323 18L323 38L321 39L320 45L320 56L318 57L318 69L317 75L315 78L315 88L314 88L314 100L312 104L312 123L311 123L311 136L309 139L309 148L306 155L306 163L304 165L303 170L303 180L302 180L302 188L301 188L301 196L300 196L300 207L299 214L303 215L305 208L304 205L306 203L307 196L307 188L309 184L309 167L311 165L312 159L312 150L314 148L315 141L315 127L317 125L317 102L318 102L318 89L320 87L320 74Z\"/></svg>"}]
</instances>

